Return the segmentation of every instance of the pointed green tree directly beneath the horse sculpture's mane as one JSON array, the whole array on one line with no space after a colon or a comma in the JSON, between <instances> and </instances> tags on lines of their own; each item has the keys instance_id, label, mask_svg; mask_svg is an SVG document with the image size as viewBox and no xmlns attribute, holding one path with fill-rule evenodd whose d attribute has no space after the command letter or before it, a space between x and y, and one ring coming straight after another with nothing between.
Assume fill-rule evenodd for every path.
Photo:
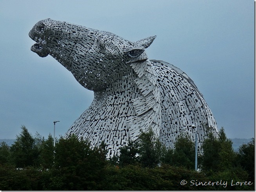
<instances>
[{"instance_id":1,"label":"pointed green tree directly beneath the horse sculpture's mane","mask_svg":"<svg viewBox=\"0 0 256 192\"><path fill-rule=\"evenodd\" d=\"M139 161L143 167L155 167L160 164L165 149L152 128L148 132L141 131L139 136Z\"/></svg>"}]
</instances>

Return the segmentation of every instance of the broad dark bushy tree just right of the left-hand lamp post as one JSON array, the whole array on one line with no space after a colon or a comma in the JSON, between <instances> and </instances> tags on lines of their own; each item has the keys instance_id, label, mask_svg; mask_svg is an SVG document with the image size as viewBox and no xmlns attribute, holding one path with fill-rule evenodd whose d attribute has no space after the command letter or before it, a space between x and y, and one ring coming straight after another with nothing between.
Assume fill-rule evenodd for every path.
<instances>
[{"instance_id":1,"label":"broad dark bushy tree just right of the left-hand lamp post","mask_svg":"<svg viewBox=\"0 0 256 192\"><path fill-rule=\"evenodd\" d=\"M56 143L53 190L96 190L104 175L105 144L91 148L88 140L76 135L61 137ZM54 188L55 187L55 188Z\"/></svg>"}]
</instances>

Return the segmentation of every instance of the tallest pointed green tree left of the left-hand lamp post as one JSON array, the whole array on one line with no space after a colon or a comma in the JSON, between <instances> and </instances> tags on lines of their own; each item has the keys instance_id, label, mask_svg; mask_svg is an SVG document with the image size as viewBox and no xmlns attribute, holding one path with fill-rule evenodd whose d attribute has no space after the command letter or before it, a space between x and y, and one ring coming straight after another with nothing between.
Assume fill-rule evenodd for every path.
<instances>
[{"instance_id":1,"label":"tallest pointed green tree left of the left-hand lamp post","mask_svg":"<svg viewBox=\"0 0 256 192\"><path fill-rule=\"evenodd\" d=\"M36 140L25 126L22 126L21 129L22 132L16 136L16 140L11 146L11 158L16 167L37 166L40 152Z\"/></svg>"}]
</instances>

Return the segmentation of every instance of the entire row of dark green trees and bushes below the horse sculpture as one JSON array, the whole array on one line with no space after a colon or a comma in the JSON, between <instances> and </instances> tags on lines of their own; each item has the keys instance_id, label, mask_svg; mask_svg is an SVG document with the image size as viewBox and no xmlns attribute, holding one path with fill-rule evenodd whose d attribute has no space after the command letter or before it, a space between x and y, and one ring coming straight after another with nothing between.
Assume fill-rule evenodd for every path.
<instances>
[{"instance_id":1,"label":"entire row of dark green trees and bushes below the horse sculpture","mask_svg":"<svg viewBox=\"0 0 256 192\"><path fill-rule=\"evenodd\" d=\"M170 149L150 129L110 159L104 142L92 148L70 135L54 147L53 140L22 126L12 146L0 143L0 190L254 190L254 139L235 152L224 128L208 133L198 171L186 134Z\"/></svg>"}]
</instances>

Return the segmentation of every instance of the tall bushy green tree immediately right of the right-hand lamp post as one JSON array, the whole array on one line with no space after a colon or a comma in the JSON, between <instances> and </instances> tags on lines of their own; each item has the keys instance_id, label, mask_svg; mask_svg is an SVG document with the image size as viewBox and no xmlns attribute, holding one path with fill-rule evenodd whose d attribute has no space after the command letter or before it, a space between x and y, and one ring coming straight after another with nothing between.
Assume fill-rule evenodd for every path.
<instances>
[{"instance_id":1,"label":"tall bushy green tree immediately right of the right-hand lamp post","mask_svg":"<svg viewBox=\"0 0 256 192\"><path fill-rule=\"evenodd\" d=\"M200 156L202 171L209 176L210 180L222 179L231 182L247 181L248 174L238 166L237 155L232 147L232 141L227 136L222 127L218 137L212 133L202 144L203 155ZM236 189L234 186L229 190ZM240 188L242 190L242 188Z\"/></svg>"}]
</instances>

